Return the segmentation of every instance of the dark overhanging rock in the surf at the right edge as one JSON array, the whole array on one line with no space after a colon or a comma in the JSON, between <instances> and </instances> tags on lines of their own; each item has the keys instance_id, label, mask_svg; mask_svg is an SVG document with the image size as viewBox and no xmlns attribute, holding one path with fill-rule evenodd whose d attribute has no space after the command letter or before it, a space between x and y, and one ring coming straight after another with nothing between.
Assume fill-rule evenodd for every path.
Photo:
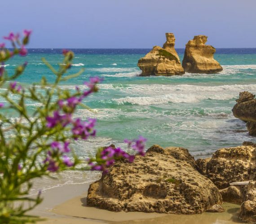
<instances>
[{"instance_id":1,"label":"dark overhanging rock in the surf at the right edge","mask_svg":"<svg viewBox=\"0 0 256 224\"><path fill-rule=\"evenodd\" d=\"M232 109L235 117L247 122L249 134L256 136L256 99L255 95L248 91L240 92L239 99Z\"/></svg>"}]
</instances>

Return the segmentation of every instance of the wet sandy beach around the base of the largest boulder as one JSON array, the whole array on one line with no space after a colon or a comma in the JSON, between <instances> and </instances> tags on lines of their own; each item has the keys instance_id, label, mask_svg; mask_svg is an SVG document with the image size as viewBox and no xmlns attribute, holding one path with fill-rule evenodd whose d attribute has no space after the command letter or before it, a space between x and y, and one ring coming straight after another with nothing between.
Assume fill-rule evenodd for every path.
<instances>
[{"instance_id":1,"label":"wet sandy beach around the base of the largest boulder","mask_svg":"<svg viewBox=\"0 0 256 224\"><path fill-rule=\"evenodd\" d=\"M124 223L135 224L234 224L241 223L237 219L239 205L223 203L226 209L222 213L204 212L196 215L176 215L144 212L112 212L86 206L89 184L62 185L42 192L44 201L31 211L30 215L38 215L45 219L40 224L97 224Z\"/></svg>"}]
</instances>

